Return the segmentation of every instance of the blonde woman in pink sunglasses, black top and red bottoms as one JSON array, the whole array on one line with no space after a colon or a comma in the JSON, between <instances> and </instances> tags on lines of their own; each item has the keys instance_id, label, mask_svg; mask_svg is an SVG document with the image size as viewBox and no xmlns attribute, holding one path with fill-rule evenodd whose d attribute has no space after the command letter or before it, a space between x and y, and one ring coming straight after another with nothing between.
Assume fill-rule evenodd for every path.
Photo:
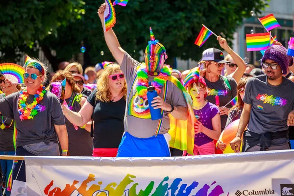
<instances>
[{"instance_id":1,"label":"blonde woman in pink sunglasses, black top and red bottoms","mask_svg":"<svg viewBox=\"0 0 294 196\"><path fill-rule=\"evenodd\" d=\"M62 106L64 116L77 126L84 126L93 115L93 156L115 157L121 143L126 104L126 82L117 64L108 65L97 81L97 89L81 110L73 112Z\"/></svg>"}]
</instances>

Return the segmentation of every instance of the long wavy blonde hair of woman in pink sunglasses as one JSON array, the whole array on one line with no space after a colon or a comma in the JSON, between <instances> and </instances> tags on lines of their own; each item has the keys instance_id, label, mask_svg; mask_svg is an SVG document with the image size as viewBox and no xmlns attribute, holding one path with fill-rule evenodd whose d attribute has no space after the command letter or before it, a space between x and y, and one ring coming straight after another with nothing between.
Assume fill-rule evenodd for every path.
<instances>
[{"instance_id":1,"label":"long wavy blonde hair of woman in pink sunglasses","mask_svg":"<svg viewBox=\"0 0 294 196\"><path fill-rule=\"evenodd\" d=\"M110 76L114 72L122 72L122 70L120 69L120 65L110 64L101 73L101 75L97 81L96 100L100 100L103 102L110 101L110 90L108 87L108 78L109 77L108 76ZM125 81L125 79L124 79L124 86L123 86L123 98L126 99L126 81Z\"/></svg>"}]
</instances>

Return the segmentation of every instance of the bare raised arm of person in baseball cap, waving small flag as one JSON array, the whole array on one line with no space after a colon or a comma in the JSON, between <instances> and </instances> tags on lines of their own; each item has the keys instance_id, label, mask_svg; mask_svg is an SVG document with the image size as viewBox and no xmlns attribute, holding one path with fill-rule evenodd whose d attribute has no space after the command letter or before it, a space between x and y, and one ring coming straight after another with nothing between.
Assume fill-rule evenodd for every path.
<instances>
[{"instance_id":1,"label":"bare raised arm of person in baseball cap, waving small flag","mask_svg":"<svg viewBox=\"0 0 294 196\"><path fill-rule=\"evenodd\" d=\"M224 38L219 36L218 40L220 42L221 48L223 48L228 54L230 54L232 59L238 65L238 68L233 73L233 78L236 80L236 82L238 84L239 81L241 80L245 70L246 70L246 63L244 62L244 60L236 52L233 51L233 49L231 49L228 46L227 41Z\"/></svg>"}]
</instances>

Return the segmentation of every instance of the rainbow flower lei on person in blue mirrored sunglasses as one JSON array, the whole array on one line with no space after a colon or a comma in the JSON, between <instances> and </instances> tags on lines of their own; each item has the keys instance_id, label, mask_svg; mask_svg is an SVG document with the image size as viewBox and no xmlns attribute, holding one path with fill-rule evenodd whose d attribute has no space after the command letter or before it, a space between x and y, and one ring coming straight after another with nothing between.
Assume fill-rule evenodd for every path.
<instances>
[{"instance_id":1,"label":"rainbow flower lei on person in blue mirrored sunglasses","mask_svg":"<svg viewBox=\"0 0 294 196\"><path fill-rule=\"evenodd\" d=\"M29 94L27 93L27 90L20 92L20 97L18 99L18 105L19 109L18 112L20 113L20 119L27 120L27 119L33 119L34 116L38 114L38 112L43 112L46 107L44 105L39 104L40 101L43 99L44 95L46 94L45 87L41 84L40 88L37 91L37 94L35 94L35 98L32 103L26 104L26 99L28 98Z\"/></svg>"}]
</instances>

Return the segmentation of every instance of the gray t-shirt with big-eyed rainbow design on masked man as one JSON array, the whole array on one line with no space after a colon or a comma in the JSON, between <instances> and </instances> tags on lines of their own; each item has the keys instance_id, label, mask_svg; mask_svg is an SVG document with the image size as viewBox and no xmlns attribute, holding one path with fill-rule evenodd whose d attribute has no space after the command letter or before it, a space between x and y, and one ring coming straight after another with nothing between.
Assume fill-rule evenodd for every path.
<instances>
[{"instance_id":1,"label":"gray t-shirt with big-eyed rainbow design on masked man","mask_svg":"<svg viewBox=\"0 0 294 196\"><path fill-rule=\"evenodd\" d=\"M155 135L158 121L152 121L150 117L148 118L149 104L147 99L140 98L137 95L136 82L132 87L134 78L137 73L137 68L140 63L134 60L128 53L125 52L123 57L123 62L121 65L121 70L125 74L125 79L127 82L127 100L126 100L126 112L124 118L124 129L131 135L138 138L148 138ZM148 75L148 81L153 81L154 76ZM173 106L183 106L188 107L183 92L177 88L172 82L168 82L168 91L166 102L172 104ZM163 90L159 94L163 97ZM162 121L162 126L159 134L165 134L170 129L170 118L168 117L168 112L164 112L164 117ZM127 116L127 118L126 118Z\"/></svg>"}]
</instances>

